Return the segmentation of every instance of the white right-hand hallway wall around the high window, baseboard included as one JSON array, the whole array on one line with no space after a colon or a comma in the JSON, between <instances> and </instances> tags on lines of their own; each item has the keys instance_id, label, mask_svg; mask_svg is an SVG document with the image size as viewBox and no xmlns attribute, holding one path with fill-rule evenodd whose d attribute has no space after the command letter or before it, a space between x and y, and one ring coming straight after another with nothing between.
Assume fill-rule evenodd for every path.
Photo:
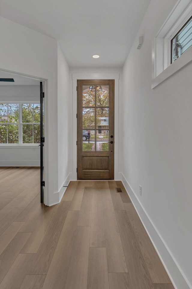
<instances>
[{"instance_id":1,"label":"white right-hand hallway wall around the high window, baseboard included","mask_svg":"<svg viewBox=\"0 0 192 289\"><path fill-rule=\"evenodd\" d=\"M151 1L123 67L122 173L175 287L183 289L192 288L192 64L151 89L152 41L175 4Z\"/></svg>"}]
</instances>

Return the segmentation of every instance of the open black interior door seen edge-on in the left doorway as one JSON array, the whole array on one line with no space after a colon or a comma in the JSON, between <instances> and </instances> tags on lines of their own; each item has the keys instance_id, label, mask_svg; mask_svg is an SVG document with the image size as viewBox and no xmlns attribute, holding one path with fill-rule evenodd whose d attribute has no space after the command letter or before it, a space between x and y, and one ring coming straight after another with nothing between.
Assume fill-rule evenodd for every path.
<instances>
[{"instance_id":1,"label":"open black interior door seen edge-on in the left doorway","mask_svg":"<svg viewBox=\"0 0 192 289\"><path fill-rule=\"evenodd\" d=\"M41 203L43 203L44 197L44 165L43 165L43 147L44 147L44 128L43 128L43 120L44 120L44 92L43 92L43 83L40 82L40 179L41 179Z\"/></svg>"}]
</instances>

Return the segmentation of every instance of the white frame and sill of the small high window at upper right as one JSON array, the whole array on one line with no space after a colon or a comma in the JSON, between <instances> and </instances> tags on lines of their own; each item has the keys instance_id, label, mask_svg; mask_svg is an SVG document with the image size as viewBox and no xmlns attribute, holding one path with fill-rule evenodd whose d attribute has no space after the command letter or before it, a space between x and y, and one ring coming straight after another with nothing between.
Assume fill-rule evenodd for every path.
<instances>
[{"instance_id":1,"label":"white frame and sill of the small high window at upper right","mask_svg":"<svg viewBox=\"0 0 192 289\"><path fill-rule=\"evenodd\" d=\"M171 39L192 15L192 1L179 0L152 42L152 89L192 61L192 47L171 63Z\"/></svg>"}]
</instances>

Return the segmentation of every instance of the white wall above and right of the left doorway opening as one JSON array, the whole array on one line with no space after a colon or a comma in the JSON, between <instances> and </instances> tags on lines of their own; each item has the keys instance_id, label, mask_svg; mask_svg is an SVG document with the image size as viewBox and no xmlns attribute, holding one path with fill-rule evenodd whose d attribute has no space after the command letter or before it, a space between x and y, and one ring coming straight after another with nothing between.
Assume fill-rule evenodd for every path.
<instances>
[{"instance_id":1,"label":"white wall above and right of the left doorway opening","mask_svg":"<svg viewBox=\"0 0 192 289\"><path fill-rule=\"evenodd\" d=\"M45 204L59 202L57 41L0 17L0 69L47 79L45 86ZM47 129L48 128L48 129Z\"/></svg>"}]
</instances>

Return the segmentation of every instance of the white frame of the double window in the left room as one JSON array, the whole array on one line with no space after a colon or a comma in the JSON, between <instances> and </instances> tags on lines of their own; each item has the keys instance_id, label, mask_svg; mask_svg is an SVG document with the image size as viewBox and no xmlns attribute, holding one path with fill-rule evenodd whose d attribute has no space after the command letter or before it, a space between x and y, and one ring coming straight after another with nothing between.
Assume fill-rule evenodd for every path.
<instances>
[{"instance_id":1,"label":"white frame of the double window in the left room","mask_svg":"<svg viewBox=\"0 0 192 289\"><path fill-rule=\"evenodd\" d=\"M0 143L0 146L39 146L38 143L22 143L22 125L25 125L25 124L32 124L32 125L39 125L40 122L34 122L34 123L23 123L22 122L22 104L28 104L28 103L35 103L35 104L40 104L40 101L2 101L1 103L3 104L11 104L11 103L18 103L19 104L19 122L17 123L1 123L2 125L3 124L14 124L14 125L18 125L18 138L19 138L19 143Z\"/></svg>"}]
</instances>

